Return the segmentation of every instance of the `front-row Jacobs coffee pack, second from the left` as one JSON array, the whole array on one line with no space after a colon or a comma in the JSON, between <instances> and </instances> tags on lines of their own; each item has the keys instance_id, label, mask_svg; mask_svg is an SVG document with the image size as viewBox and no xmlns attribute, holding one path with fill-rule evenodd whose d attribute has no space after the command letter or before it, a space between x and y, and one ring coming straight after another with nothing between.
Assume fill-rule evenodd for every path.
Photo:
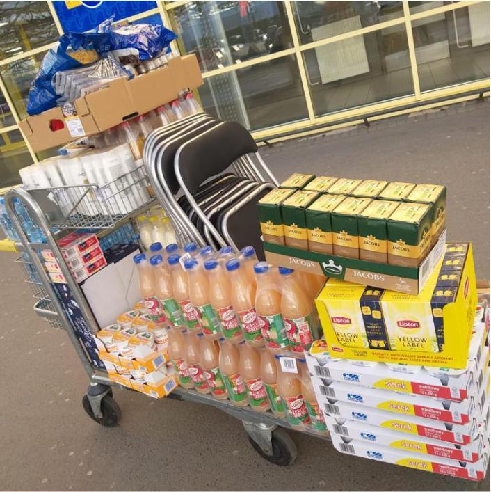
<instances>
[{"instance_id":1,"label":"front-row Jacobs coffee pack, second from the left","mask_svg":"<svg viewBox=\"0 0 491 492\"><path fill-rule=\"evenodd\" d=\"M305 250L309 248L305 209L316 198L319 198L319 193L316 191L299 190L283 201L281 213L284 228L284 243L287 246Z\"/></svg>"}]
</instances>

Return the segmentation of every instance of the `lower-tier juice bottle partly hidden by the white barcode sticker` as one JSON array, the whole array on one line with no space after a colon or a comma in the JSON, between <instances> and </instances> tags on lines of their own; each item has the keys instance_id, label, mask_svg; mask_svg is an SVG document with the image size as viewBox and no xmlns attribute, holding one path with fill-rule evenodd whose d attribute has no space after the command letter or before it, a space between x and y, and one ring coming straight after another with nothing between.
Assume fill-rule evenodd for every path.
<instances>
[{"instance_id":1,"label":"lower-tier juice bottle partly hidden by the white barcode sticker","mask_svg":"<svg viewBox=\"0 0 491 492\"><path fill-rule=\"evenodd\" d=\"M280 356L275 356L278 360ZM292 359L295 361L295 359ZM295 361L296 362L296 361ZM304 427L310 423L307 406L302 396L302 383L300 375L292 372L284 372L281 369L277 372L278 395L282 399L284 411L291 427Z\"/></svg>"}]
</instances>

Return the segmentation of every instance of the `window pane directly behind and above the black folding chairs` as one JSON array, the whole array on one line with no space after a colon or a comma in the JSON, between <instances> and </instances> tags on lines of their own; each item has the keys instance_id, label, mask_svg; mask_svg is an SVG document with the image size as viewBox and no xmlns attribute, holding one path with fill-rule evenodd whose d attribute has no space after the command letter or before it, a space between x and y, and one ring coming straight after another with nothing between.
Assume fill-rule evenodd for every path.
<instances>
[{"instance_id":1,"label":"window pane directly behind and above the black folding chairs","mask_svg":"<svg viewBox=\"0 0 491 492\"><path fill-rule=\"evenodd\" d=\"M204 79L199 88L204 111L251 130L307 118L295 56Z\"/></svg>"}]
</instances>

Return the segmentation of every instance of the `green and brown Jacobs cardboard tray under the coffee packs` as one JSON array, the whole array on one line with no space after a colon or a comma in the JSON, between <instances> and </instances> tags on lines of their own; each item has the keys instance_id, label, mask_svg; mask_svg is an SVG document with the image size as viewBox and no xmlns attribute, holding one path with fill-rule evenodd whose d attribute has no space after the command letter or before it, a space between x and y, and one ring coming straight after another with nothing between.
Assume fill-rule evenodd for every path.
<instances>
[{"instance_id":1,"label":"green and brown Jacobs cardboard tray under the coffee packs","mask_svg":"<svg viewBox=\"0 0 491 492\"><path fill-rule=\"evenodd\" d=\"M445 252L446 231L419 267L399 267L367 260L326 255L316 251L289 248L282 244L265 242L266 261L281 267L293 268L315 275L325 275L361 285L418 294L430 274L442 260Z\"/></svg>"}]
</instances>

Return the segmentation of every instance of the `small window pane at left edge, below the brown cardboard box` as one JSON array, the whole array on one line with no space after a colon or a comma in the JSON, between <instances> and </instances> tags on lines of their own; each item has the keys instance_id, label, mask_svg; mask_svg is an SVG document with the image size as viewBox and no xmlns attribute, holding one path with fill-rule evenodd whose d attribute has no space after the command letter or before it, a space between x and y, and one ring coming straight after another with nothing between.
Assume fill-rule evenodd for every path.
<instances>
[{"instance_id":1,"label":"small window pane at left edge, below the brown cardboard box","mask_svg":"<svg viewBox=\"0 0 491 492\"><path fill-rule=\"evenodd\" d=\"M19 130L0 134L0 188L18 184L19 169L32 163Z\"/></svg>"}]
</instances>

